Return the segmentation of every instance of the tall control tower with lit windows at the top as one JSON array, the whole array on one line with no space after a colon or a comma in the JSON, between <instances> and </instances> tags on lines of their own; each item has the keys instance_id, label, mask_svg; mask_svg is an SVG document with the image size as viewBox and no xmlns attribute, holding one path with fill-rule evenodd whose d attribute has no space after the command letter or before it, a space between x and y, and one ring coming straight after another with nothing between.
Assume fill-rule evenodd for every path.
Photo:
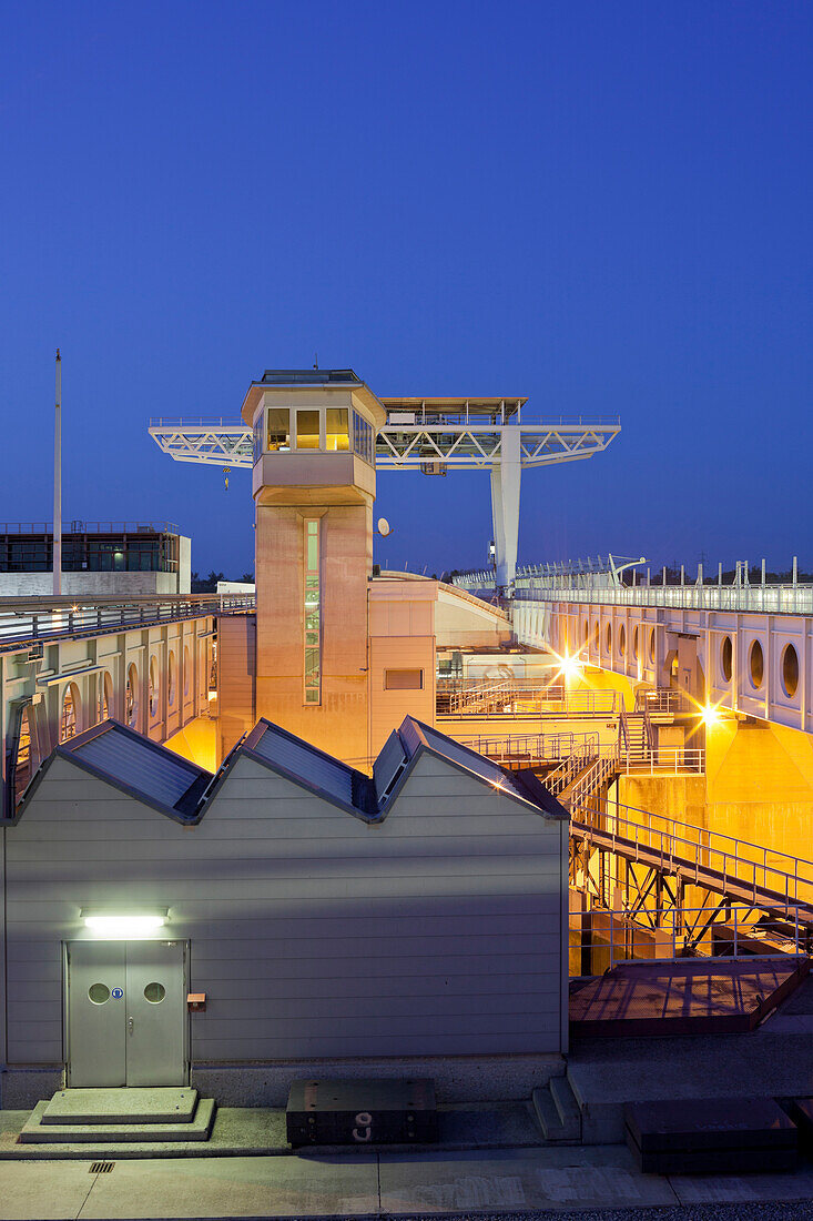
<instances>
[{"instance_id":1,"label":"tall control tower with lit windows at the top","mask_svg":"<svg viewBox=\"0 0 813 1221\"><path fill-rule=\"evenodd\" d=\"M352 369L273 369L251 383L242 415L253 433L256 716L358 766L387 413Z\"/></svg>"}]
</instances>

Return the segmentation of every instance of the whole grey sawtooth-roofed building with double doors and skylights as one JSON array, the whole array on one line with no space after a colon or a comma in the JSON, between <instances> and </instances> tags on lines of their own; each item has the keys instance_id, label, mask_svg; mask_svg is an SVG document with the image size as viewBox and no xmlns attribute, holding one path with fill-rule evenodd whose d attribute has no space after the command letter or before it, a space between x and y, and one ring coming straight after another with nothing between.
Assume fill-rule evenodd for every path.
<instances>
[{"instance_id":1,"label":"whole grey sawtooth-roofed building with double doors and skylights","mask_svg":"<svg viewBox=\"0 0 813 1221\"><path fill-rule=\"evenodd\" d=\"M509 1096L566 1050L566 814L410 718L372 778L269 722L216 777L105 722L54 751L1 834L2 1105L65 1072L189 1071L276 1104L297 1066L336 1061L421 1061L447 1096L493 1070ZM159 1044L179 1049L171 1081Z\"/></svg>"}]
</instances>

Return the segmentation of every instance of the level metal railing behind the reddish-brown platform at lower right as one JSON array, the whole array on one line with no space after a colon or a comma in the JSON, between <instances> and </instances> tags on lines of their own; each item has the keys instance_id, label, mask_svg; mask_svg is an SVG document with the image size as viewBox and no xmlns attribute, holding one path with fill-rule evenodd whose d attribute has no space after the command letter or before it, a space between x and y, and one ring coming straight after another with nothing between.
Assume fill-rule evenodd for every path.
<instances>
[{"instance_id":1,"label":"level metal railing behind the reddish-brown platform at lower right","mask_svg":"<svg viewBox=\"0 0 813 1221\"><path fill-rule=\"evenodd\" d=\"M581 927L574 924L576 919ZM619 962L675 958L753 958L807 954L808 928L798 907L781 917L752 907L593 907L571 915L569 949L590 956L590 974ZM581 973L581 972L577 972Z\"/></svg>"}]
</instances>

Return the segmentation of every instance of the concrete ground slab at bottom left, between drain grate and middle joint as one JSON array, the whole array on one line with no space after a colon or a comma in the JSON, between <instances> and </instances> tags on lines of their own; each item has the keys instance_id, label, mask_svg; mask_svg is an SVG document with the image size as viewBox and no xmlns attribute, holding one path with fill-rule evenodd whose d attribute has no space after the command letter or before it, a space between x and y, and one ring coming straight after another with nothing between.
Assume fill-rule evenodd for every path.
<instances>
[{"instance_id":1,"label":"concrete ground slab at bottom left, between drain grate and middle joint","mask_svg":"<svg viewBox=\"0 0 813 1221\"><path fill-rule=\"evenodd\" d=\"M117 1164L82 1209L93 1217L374 1216L375 1156L214 1158Z\"/></svg>"}]
</instances>

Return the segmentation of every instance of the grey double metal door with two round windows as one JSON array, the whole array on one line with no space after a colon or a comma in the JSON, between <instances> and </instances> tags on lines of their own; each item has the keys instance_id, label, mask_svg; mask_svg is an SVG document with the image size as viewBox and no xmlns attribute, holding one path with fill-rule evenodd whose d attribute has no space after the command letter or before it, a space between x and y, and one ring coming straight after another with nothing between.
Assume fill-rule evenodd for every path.
<instances>
[{"instance_id":1,"label":"grey double metal door with two round windows","mask_svg":"<svg viewBox=\"0 0 813 1221\"><path fill-rule=\"evenodd\" d=\"M184 1085L187 943L70 941L68 1084Z\"/></svg>"}]
</instances>

